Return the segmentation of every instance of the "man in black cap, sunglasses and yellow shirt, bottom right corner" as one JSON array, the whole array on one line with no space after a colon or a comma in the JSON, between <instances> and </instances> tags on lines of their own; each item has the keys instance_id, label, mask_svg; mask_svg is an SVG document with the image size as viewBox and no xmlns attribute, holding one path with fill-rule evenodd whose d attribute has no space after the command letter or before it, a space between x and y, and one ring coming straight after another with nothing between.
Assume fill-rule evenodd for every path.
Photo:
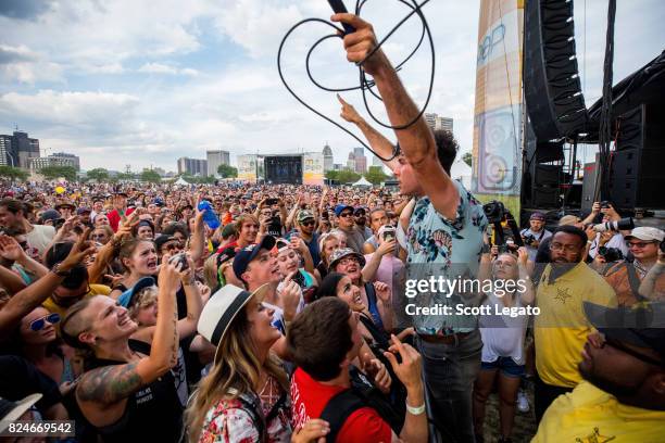
<instances>
[{"instance_id":1,"label":"man in black cap, sunglasses and yellow shirt, bottom right corner","mask_svg":"<svg viewBox=\"0 0 665 443\"><path fill-rule=\"evenodd\" d=\"M663 441L665 306L585 303L585 313L600 333L585 343L584 381L552 403L531 442Z\"/></svg>"}]
</instances>

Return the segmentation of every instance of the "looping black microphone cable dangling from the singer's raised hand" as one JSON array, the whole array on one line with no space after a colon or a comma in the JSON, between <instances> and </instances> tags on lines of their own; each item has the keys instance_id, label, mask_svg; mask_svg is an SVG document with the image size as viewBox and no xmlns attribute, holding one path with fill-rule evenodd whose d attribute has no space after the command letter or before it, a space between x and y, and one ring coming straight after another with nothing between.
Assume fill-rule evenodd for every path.
<instances>
[{"instance_id":1,"label":"looping black microphone cable dangling from the singer's raised hand","mask_svg":"<svg viewBox=\"0 0 665 443\"><path fill-rule=\"evenodd\" d=\"M363 7L367 3L368 0L356 0L355 2L355 15L361 16L361 12ZM330 34L327 35L325 37L319 38L308 51L308 56L305 59L305 68L306 68L306 73L308 73L308 77L310 78L310 81L312 81L317 88L324 90L324 91L328 91L328 92L348 92L348 91L354 91L354 90L361 90L362 94L363 94L363 103L365 104L365 109L367 110L367 113L369 114L369 116L372 117L372 119L374 119L374 122L376 122L378 125L388 128L388 129L393 129L393 130L399 130L399 129L405 129L410 126L412 126L413 124L415 124L421 116L425 113L425 110L427 109L427 105L429 104L429 100L431 99L431 92L434 89L434 79L435 79L435 48L434 48L434 40L431 37L431 31L429 29L429 25L427 23L427 20L425 18L425 15L423 14L423 12L421 11L421 9L429 3L430 0L425 0L422 3L417 3L416 0L398 0L400 3L406 5L407 8L411 9L411 12L409 14L406 14L389 33L388 35L386 35L386 37L384 37L378 43L377 46L359 63L356 63L357 69L359 69L359 79L360 79L360 85L359 86L353 86L353 87L347 87L347 88L329 88L326 87L324 85L322 85L319 81L317 81L313 74L312 74L312 69L310 68L310 61L312 58L312 53L314 52L314 50L324 41L326 41L327 39L330 38L343 38L343 29L337 27L335 24L323 20L323 18L305 18L302 20L300 22L298 22L296 25L293 25L288 31L287 34L284 36L284 38L281 39L281 42L279 43L279 50L277 51L277 71L279 73L279 79L281 80L281 83L284 84L284 86L286 87L286 89L291 93L291 96L293 96L293 98L296 100L298 100L303 106L305 106L308 110L312 111L314 114L318 115L319 117L324 118L325 121L331 123L332 125L337 126L338 128L340 128L341 130L343 130L344 132L347 132L348 135L350 135L351 137L353 137L355 140L357 140L359 143L361 143L363 147L365 147L369 152L372 152L374 155L376 155L377 157L379 157L381 161L384 162L390 162L391 160L393 160L394 157L397 157L400 154L400 148L399 144L396 144L392 149L392 154L390 155L390 157L384 157L381 155L379 155L377 152L375 152L369 145L367 145L367 143L365 143L363 140L361 140L355 134L353 134L352 131L350 131L349 129L347 129L346 127L343 127L342 125L340 125L339 123L335 122L332 118L324 115L323 113L316 111L314 107L312 107L311 105L309 105L303 99L301 99L296 91L293 91L293 89L291 89L291 87L287 84L285 77L284 77L284 72L281 68L281 51L284 50L284 46L286 43L286 41L288 40L288 38L291 36L291 34L298 29L300 26L308 24L308 23L323 23L327 26L332 27L336 30L336 34ZM381 121L379 121L374 113L372 112L372 110L369 109L369 104L367 102L367 91L369 91L369 93L372 93L372 96L374 96L375 98L377 98L378 100L382 101L382 99L380 98L380 96L375 92L373 90L373 88L376 86L376 83L374 80L368 80L367 76L365 74L365 71L363 69L363 63L365 63L365 61L367 59L369 59L372 55L374 55L374 53L376 51L379 50L379 48L409 20L411 18L411 16L413 16L414 14L417 14L418 17L421 18L421 22L423 23L423 33L421 34L421 38L418 40L418 43L416 45L415 49L400 63L396 66L396 71L399 72L401 71L402 66L417 52L417 50L421 48L421 45L423 43L423 40L425 39L425 36L427 36L427 39L429 40L429 48L431 51L431 72L430 72L430 76L429 76L429 87L427 90L427 99L425 100L425 104L423 105L423 107L419 110L418 114L409 123L404 124L404 125L398 125L398 126L392 126L390 124L386 124Z\"/></svg>"}]
</instances>

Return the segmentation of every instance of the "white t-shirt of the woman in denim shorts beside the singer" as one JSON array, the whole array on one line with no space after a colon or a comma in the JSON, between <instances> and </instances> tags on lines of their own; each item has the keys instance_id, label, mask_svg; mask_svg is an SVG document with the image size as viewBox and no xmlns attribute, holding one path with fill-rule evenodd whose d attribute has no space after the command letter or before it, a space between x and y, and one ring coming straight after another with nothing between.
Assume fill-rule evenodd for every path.
<instances>
[{"instance_id":1,"label":"white t-shirt of the woman in denim shorts beside the singer","mask_svg":"<svg viewBox=\"0 0 665 443\"><path fill-rule=\"evenodd\" d=\"M509 294L504 296L511 296ZM504 304L500 298L493 293L488 293L482 303L501 309ZM515 294L514 307L522 307L519 294ZM526 338L528 317L511 317L509 315L479 316L478 326L482 338L482 362L495 362L499 357L511 357L517 365L524 365L524 340Z\"/></svg>"}]
</instances>

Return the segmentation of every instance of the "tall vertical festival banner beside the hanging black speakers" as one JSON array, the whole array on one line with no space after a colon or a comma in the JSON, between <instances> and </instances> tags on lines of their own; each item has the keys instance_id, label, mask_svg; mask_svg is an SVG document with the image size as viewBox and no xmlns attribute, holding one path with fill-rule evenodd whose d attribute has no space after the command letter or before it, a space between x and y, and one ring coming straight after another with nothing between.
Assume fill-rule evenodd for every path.
<instances>
[{"instance_id":1,"label":"tall vertical festival banner beside the hanging black speakers","mask_svg":"<svg viewBox=\"0 0 665 443\"><path fill-rule=\"evenodd\" d=\"M524 0L481 0L474 112L474 194L519 216Z\"/></svg>"}]
</instances>

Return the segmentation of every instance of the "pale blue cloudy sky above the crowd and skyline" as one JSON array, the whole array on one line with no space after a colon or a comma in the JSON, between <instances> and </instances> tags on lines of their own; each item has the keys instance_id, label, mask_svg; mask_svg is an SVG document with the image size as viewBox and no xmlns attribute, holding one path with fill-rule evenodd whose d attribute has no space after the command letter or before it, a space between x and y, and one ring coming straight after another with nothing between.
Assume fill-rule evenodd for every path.
<instances>
[{"instance_id":1,"label":"pale blue cloudy sky above the crowd and skyline","mask_svg":"<svg viewBox=\"0 0 665 443\"><path fill-rule=\"evenodd\" d=\"M615 83L665 42L665 2L618 3ZM575 0L588 105L600 97L606 5ZM479 0L425 7L436 46L428 111L454 118L463 151L472 145L478 8ZM405 13L397 1L375 0L363 15L380 37ZM329 15L323 0L2 0L0 134L17 125L40 139L42 155L75 153L84 169L175 170L177 157L204 157L208 149L229 150L233 162L242 153L321 151L325 142L342 162L357 143L297 103L276 67L279 42L293 24ZM304 76L309 47L330 30L301 27L285 47L284 65L303 99L337 116L335 97ZM388 55L403 58L419 33L417 20L407 22L386 45ZM430 63L424 48L402 72L418 103ZM357 84L337 39L313 54L312 69L327 86ZM362 107L360 92L344 97ZM373 110L384 115L380 104Z\"/></svg>"}]
</instances>

